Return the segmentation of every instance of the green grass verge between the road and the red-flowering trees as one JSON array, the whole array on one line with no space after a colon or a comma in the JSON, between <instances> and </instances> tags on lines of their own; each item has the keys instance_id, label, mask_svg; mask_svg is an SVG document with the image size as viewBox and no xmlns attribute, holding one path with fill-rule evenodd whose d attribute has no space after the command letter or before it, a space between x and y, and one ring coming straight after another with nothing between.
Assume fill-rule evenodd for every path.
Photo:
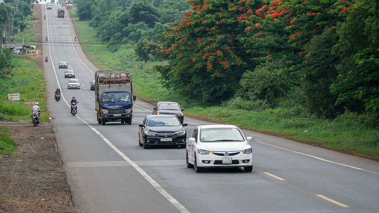
<instances>
[{"instance_id":1,"label":"green grass verge between the road and the red-flowering trees","mask_svg":"<svg viewBox=\"0 0 379 213\"><path fill-rule=\"evenodd\" d=\"M81 42L99 41L96 31L89 26L88 21L79 21L75 11L70 10L70 15ZM367 121L375 118L369 113L357 115L348 112L330 121L318 119L301 107L246 111L236 109L230 104L207 106L197 101L188 101L163 88L159 80L160 74L152 67L164 62L138 61L131 46L120 47L117 52L111 52L104 46L83 45L82 48L100 69L131 71L133 93L148 102L176 101L186 108L186 115L212 116L214 122L232 123L250 130L274 132L297 141L316 142L324 147L379 158L379 127L367 124Z\"/></svg>"}]
</instances>

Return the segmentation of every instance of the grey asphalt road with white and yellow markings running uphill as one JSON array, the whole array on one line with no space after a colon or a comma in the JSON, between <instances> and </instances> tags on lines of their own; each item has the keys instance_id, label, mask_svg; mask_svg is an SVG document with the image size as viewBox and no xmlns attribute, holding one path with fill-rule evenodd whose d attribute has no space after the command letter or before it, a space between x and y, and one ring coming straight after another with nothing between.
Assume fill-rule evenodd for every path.
<instances>
[{"instance_id":1,"label":"grey asphalt road with white and yellow markings running uphill","mask_svg":"<svg viewBox=\"0 0 379 213\"><path fill-rule=\"evenodd\" d=\"M185 149L138 146L138 123L151 114L151 104L136 101L132 125L102 126L89 90L98 70L74 41L75 30L66 18L42 7L42 37L48 88L48 109L55 119L58 150L67 171L73 204L82 212L379 212L379 163L305 144L244 131L254 137L254 170L205 169L196 174L185 166ZM65 69L81 81L68 90ZM62 88L69 102L80 102L78 116L64 100L54 101ZM185 106L183 106L185 108ZM187 137L198 124L184 118Z\"/></svg>"}]
</instances>

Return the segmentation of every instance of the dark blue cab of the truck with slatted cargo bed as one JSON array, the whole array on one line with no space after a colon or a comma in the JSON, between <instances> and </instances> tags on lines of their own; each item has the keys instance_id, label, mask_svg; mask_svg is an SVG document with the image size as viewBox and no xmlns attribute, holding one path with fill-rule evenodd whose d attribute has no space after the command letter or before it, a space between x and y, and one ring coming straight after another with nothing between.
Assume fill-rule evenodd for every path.
<instances>
[{"instance_id":1,"label":"dark blue cab of the truck with slatted cargo bed","mask_svg":"<svg viewBox=\"0 0 379 213\"><path fill-rule=\"evenodd\" d=\"M121 121L121 123L131 124L133 102L136 98L132 97L129 91L104 91L99 99L102 122Z\"/></svg>"}]
</instances>

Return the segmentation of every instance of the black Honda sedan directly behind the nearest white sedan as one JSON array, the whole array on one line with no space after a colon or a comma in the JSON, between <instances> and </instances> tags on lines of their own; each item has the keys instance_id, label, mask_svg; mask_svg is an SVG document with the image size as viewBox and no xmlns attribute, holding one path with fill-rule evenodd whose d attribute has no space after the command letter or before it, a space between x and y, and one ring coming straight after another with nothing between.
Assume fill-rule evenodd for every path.
<instances>
[{"instance_id":1,"label":"black Honda sedan directly behind the nearest white sedan","mask_svg":"<svg viewBox=\"0 0 379 213\"><path fill-rule=\"evenodd\" d=\"M187 132L175 115L148 115L138 124L138 144L148 149L152 146L180 146L185 148Z\"/></svg>"}]
</instances>

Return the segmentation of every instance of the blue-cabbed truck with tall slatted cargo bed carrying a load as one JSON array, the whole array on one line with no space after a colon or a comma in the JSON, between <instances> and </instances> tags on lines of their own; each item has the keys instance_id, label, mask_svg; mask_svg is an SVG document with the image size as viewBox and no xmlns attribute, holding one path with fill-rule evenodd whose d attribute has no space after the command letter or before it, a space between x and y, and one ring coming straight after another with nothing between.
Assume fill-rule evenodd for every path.
<instances>
[{"instance_id":1,"label":"blue-cabbed truck with tall slatted cargo bed carrying a load","mask_svg":"<svg viewBox=\"0 0 379 213\"><path fill-rule=\"evenodd\" d=\"M98 123L110 121L131 124L133 103L132 78L127 70L98 70L95 73L95 110Z\"/></svg>"}]
</instances>

